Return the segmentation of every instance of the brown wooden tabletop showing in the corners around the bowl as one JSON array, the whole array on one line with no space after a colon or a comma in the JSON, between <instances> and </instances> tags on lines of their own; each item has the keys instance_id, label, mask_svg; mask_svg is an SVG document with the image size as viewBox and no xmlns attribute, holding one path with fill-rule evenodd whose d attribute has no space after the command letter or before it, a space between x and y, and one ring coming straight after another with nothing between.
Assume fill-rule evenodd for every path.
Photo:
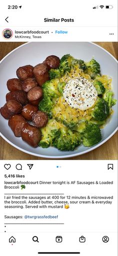
<instances>
[{"instance_id":1,"label":"brown wooden tabletop showing in the corners around the bowl","mask_svg":"<svg viewBox=\"0 0 118 256\"><path fill-rule=\"evenodd\" d=\"M115 58L117 58L117 43L113 42L95 42L108 52L110 52ZM12 51L14 48L22 45L20 42L0 42L0 60ZM39 160L43 158L34 157L23 153L10 144L5 142L0 137L0 160ZM117 134L115 133L106 143L99 148L86 153L84 155L69 158L73 160L116 160L117 159Z\"/></svg>"}]
</instances>

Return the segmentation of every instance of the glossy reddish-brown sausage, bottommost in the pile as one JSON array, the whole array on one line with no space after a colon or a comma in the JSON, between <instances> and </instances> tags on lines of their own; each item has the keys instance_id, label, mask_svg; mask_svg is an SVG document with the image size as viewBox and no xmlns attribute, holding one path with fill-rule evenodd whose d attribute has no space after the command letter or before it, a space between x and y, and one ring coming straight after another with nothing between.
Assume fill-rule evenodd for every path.
<instances>
[{"instance_id":1,"label":"glossy reddish-brown sausage, bottommost in the pile","mask_svg":"<svg viewBox=\"0 0 118 256\"><path fill-rule=\"evenodd\" d=\"M21 138L30 146L36 148L41 140L41 134L38 128L25 123L21 131Z\"/></svg>"}]
</instances>

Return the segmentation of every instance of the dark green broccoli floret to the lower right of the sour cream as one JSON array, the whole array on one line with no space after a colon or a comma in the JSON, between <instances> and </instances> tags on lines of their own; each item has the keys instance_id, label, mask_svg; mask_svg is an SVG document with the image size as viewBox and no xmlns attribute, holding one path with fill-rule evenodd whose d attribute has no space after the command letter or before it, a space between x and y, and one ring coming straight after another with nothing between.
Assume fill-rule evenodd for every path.
<instances>
[{"instance_id":1,"label":"dark green broccoli floret to the lower right of the sour cream","mask_svg":"<svg viewBox=\"0 0 118 256\"><path fill-rule=\"evenodd\" d=\"M108 103L103 98L99 98L94 106L91 115L95 120L105 120L109 115Z\"/></svg>"}]
</instances>

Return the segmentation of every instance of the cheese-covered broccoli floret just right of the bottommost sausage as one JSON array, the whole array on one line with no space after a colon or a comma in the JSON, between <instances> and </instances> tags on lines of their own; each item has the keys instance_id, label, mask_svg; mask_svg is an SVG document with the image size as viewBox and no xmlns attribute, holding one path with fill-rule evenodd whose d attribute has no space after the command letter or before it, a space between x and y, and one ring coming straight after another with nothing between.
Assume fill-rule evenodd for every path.
<instances>
[{"instance_id":1,"label":"cheese-covered broccoli floret just right of the bottommost sausage","mask_svg":"<svg viewBox=\"0 0 118 256\"><path fill-rule=\"evenodd\" d=\"M39 146L42 148L48 148L52 146L52 141L56 137L58 138L60 135L60 130L58 128L57 122L54 119L48 121L47 125L41 128L41 141L39 142Z\"/></svg>"}]
</instances>

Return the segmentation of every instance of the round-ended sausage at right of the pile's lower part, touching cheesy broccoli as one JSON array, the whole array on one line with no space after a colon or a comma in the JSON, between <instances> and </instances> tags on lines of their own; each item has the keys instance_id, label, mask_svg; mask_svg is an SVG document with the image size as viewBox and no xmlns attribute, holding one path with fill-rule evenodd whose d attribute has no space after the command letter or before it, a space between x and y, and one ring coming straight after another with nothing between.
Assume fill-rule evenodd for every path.
<instances>
[{"instance_id":1,"label":"round-ended sausage at right of the pile's lower part, touching cheesy broccoli","mask_svg":"<svg viewBox=\"0 0 118 256\"><path fill-rule=\"evenodd\" d=\"M33 114L32 117L32 123L34 126L41 128L44 127L47 124L48 117L47 114L45 114L42 111L37 111L36 113Z\"/></svg>"}]
</instances>

